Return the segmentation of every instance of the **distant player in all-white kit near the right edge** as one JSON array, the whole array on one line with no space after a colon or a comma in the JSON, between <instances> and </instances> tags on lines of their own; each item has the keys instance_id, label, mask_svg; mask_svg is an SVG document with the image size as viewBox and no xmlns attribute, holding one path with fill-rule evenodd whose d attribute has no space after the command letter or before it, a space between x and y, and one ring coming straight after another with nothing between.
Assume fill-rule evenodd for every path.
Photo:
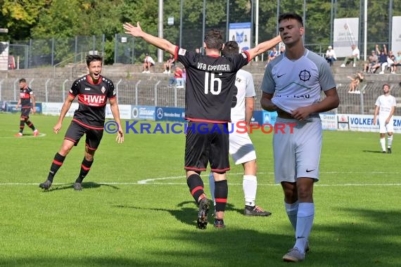
<instances>
[{"instance_id":1,"label":"distant player in all-white kit near the right edge","mask_svg":"<svg viewBox=\"0 0 401 267\"><path fill-rule=\"evenodd\" d=\"M393 145L394 123L393 115L395 112L395 97L390 95L390 86L383 84L383 95L378 96L374 104L373 124L376 125L378 117L378 126L380 133L381 151L386 153L386 133L387 133L387 152L391 153L391 145Z\"/></svg>"}]
</instances>

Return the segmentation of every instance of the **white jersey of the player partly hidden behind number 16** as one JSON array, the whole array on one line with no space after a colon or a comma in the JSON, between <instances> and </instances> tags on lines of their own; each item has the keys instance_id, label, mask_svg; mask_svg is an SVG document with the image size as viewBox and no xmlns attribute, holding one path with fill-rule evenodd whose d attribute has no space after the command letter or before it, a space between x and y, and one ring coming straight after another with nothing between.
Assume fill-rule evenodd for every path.
<instances>
[{"instance_id":1,"label":"white jersey of the player partly hidden behind number 16","mask_svg":"<svg viewBox=\"0 0 401 267\"><path fill-rule=\"evenodd\" d=\"M231 122L245 121L245 98L256 96L252 74L245 70L236 72L236 96L233 97L231 108Z\"/></svg>"}]
</instances>

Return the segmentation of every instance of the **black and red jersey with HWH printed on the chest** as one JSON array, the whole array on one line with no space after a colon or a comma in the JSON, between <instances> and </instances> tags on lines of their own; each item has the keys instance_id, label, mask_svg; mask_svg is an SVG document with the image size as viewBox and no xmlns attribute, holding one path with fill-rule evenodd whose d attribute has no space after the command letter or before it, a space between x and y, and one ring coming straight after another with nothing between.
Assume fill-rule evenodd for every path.
<instances>
[{"instance_id":1,"label":"black and red jersey with HWH printed on the chest","mask_svg":"<svg viewBox=\"0 0 401 267\"><path fill-rule=\"evenodd\" d=\"M85 75L75 80L69 94L74 98L78 96L79 107L74 112L74 120L103 129L107 99L115 98L113 82L101 76L98 83L93 84L89 75Z\"/></svg>"}]
</instances>

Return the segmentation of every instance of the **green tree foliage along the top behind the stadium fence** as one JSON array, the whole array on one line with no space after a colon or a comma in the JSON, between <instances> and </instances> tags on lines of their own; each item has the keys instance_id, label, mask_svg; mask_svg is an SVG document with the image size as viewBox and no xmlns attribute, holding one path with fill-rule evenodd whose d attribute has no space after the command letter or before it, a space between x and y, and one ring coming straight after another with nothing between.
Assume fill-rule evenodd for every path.
<instances>
[{"instance_id":1,"label":"green tree foliage along the top behind the stadium fence","mask_svg":"<svg viewBox=\"0 0 401 267\"><path fill-rule=\"evenodd\" d=\"M391 1L392 15L401 15L401 0ZM303 16L304 1L260 1L259 41L270 39L277 32L278 2L279 13L294 11ZM367 39L371 44L388 42L389 2L390 0L369 1ZM182 0L182 25L179 21L181 0L165 0L163 3L163 37L173 44L179 44L181 26L182 46L191 50L202 46L203 1ZM225 33L227 1L208 0L205 3L205 31L216 28ZM8 34L1 35L2 39L73 39L76 36L91 37L104 34L108 43L107 62L113 61L114 51L110 43L113 42L115 34L123 34L123 22L139 21L146 32L158 35L158 1L155 0L0 0L0 4L0 27L9 29ZM333 18L359 18L362 31L363 4L363 0L306 1L305 44L329 44L331 11ZM169 17L174 17L172 26L167 25ZM230 23L250 20L250 0L229 0ZM69 43L71 45L71 41ZM137 41L136 45L136 58L140 58L146 52L157 54L157 49L145 42ZM64 55L65 51L56 57L62 58Z\"/></svg>"}]
</instances>

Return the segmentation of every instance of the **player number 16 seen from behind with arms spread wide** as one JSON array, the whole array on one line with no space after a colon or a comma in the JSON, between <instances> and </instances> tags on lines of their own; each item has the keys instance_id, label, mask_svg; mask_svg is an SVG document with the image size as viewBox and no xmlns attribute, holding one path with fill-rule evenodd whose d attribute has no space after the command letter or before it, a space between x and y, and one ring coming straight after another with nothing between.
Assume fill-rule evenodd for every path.
<instances>
[{"instance_id":1,"label":"player number 16 seen from behind with arms spread wide","mask_svg":"<svg viewBox=\"0 0 401 267\"><path fill-rule=\"evenodd\" d=\"M228 186L226 171L229 167L229 133L231 100L234 95L236 72L255 56L276 46L281 38L265 41L235 56L222 57L222 33L210 30L204 39L205 56L171 44L170 41L125 23L125 33L141 37L153 46L174 55L174 59L186 68L185 117L189 121L185 143L186 182L189 191L199 206L198 228L208 224L210 200L203 190L200 172L210 168L215 178L216 218L214 226L224 228L224 210L227 203Z\"/></svg>"}]
</instances>

